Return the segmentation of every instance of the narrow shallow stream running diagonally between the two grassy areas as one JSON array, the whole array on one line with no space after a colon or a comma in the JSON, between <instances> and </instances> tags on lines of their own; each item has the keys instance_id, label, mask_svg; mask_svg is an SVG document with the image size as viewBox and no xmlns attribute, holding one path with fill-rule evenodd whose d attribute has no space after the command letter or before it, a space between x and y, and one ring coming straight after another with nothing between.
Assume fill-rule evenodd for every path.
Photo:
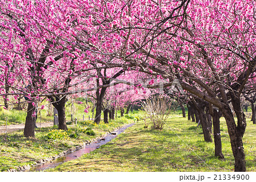
<instances>
[{"instance_id":1,"label":"narrow shallow stream running diagonally between the two grassy areas","mask_svg":"<svg viewBox=\"0 0 256 182\"><path fill-rule=\"evenodd\" d=\"M52 162L46 162L46 163L41 164L39 166L32 167L30 169L30 171L44 171L44 170L49 169L49 168L55 168L56 166L59 166L62 163L68 162L69 160L77 159L82 154L88 154L91 151L96 150L97 148L99 148L103 144L106 144L106 143L110 142L110 140L114 139L115 137L117 137L117 135L123 133L123 131L125 131L128 127L131 127L133 125L134 125L134 123L126 125L125 127L122 127L121 129L113 131L113 133L116 133L115 135L108 134L108 135L106 135L106 137L101 138L101 139L97 140L96 142L90 143L87 146L85 146L84 148L80 148L79 150L76 150L72 153L66 154L66 155L62 156L61 158L53 160Z\"/></svg>"}]
</instances>

